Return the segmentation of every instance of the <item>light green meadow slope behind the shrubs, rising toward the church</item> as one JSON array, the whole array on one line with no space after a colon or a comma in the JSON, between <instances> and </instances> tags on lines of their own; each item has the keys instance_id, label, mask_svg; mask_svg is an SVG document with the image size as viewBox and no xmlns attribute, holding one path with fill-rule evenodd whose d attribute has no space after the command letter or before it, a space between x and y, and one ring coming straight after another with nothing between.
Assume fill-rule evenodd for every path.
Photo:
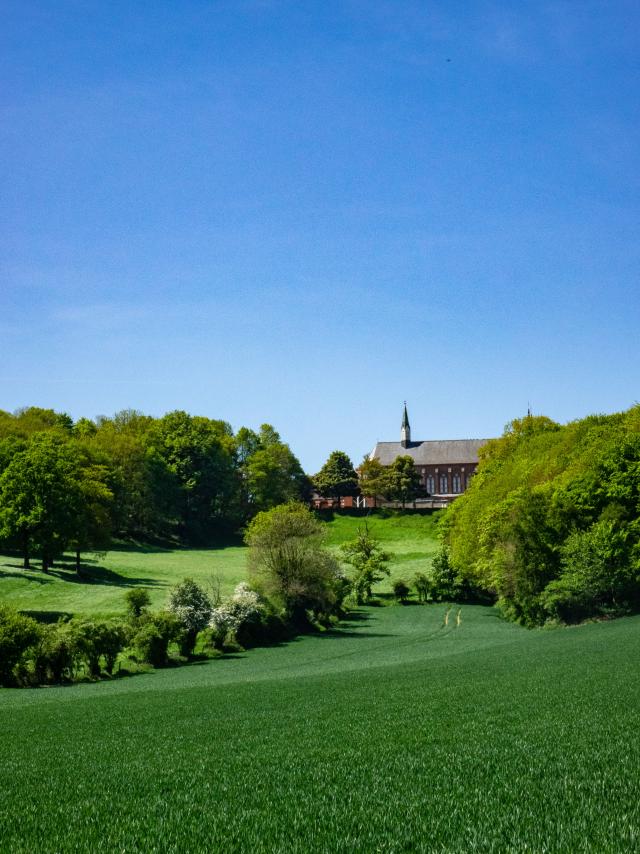
<instances>
[{"instance_id":1,"label":"light green meadow slope behind the shrubs, rising toward the church","mask_svg":"<svg viewBox=\"0 0 640 854\"><path fill-rule=\"evenodd\" d=\"M368 520L395 555L391 580L424 570L437 548L435 519L416 514ZM336 516L327 522L327 543L337 549L362 524L362 519ZM205 586L217 577L223 595L229 594L246 577L246 549L116 549L103 559L88 559L83 579L71 559L44 575L37 568L23 570L16 557L0 556L0 599L26 611L110 616L124 610L124 593L131 587L148 588L152 606L163 607L169 588L186 576ZM389 582L380 586L389 589Z\"/></svg>"}]
</instances>

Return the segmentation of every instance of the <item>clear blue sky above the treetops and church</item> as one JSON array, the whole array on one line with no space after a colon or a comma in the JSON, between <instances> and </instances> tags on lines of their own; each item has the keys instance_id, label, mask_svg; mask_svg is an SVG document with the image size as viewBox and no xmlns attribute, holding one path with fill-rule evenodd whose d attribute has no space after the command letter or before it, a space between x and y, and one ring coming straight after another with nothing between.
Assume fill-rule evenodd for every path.
<instances>
[{"instance_id":1,"label":"clear blue sky above the treetops and church","mask_svg":"<svg viewBox=\"0 0 640 854\"><path fill-rule=\"evenodd\" d=\"M634 2L3 4L0 408L305 468L640 399Z\"/></svg>"}]
</instances>

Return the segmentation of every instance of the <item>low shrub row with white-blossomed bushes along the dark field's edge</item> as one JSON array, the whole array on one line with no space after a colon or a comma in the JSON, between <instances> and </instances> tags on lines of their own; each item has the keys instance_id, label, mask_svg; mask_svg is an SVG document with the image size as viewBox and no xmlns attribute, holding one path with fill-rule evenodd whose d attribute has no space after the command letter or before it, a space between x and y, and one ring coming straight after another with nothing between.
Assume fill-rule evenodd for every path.
<instances>
[{"instance_id":1,"label":"low shrub row with white-blossomed bushes along the dark field's edge","mask_svg":"<svg viewBox=\"0 0 640 854\"><path fill-rule=\"evenodd\" d=\"M189 612L189 596L200 600L200 622L194 608ZM228 648L247 649L291 635L286 622L244 584L217 608L189 579L173 591L168 610L152 612L148 604L146 591L136 589L127 594L124 620L71 619L50 625L0 607L0 685L100 679L113 676L123 661L125 666L132 662L159 668L172 660L187 660L196 645L205 655L217 655Z\"/></svg>"}]
</instances>

